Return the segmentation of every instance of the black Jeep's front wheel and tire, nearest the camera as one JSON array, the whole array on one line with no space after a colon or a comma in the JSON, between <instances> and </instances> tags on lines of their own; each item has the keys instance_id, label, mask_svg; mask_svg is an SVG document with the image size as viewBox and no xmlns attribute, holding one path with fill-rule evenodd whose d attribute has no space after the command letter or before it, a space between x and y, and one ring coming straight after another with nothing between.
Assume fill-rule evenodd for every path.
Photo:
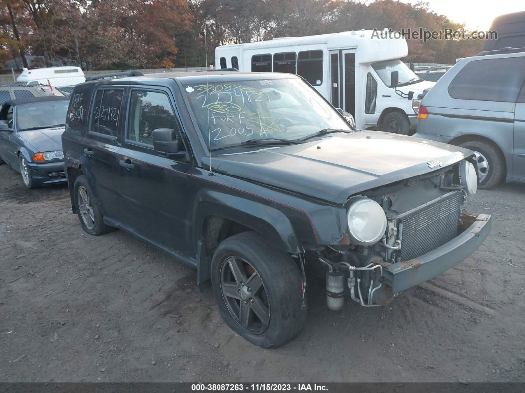
<instances>
[{"instance_id":1,"label":"black Jeep's front wheel and tire, nearest the camera","mask_svg":"<svg viewBox=\"0 0 525 393\"><path fill-rule=\"evenodd\" d=\"M224 240L213 254L212 287L224 321L250 343L278 347L306 320L301 273L289 254L255 232Z\"/></svg>"}]
</instances>

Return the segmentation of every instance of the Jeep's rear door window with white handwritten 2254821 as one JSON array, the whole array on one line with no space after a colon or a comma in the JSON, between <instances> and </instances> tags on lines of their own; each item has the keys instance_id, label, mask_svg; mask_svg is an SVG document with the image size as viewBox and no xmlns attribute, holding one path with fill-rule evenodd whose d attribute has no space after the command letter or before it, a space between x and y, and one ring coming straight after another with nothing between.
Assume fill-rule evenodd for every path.
<instances>
[{"instance_id":1,"label":"Jeep's rear door window with white handwritten 2254821","mask_svg":"<svg viewBox=\"0 0 525 393\"><path fill-rule=\"evenodd\" d=\"M95 108L91 132L117 137L120 106L122 104L123 90L98 90L95 95Z\"/></svg>"}]
</instances>

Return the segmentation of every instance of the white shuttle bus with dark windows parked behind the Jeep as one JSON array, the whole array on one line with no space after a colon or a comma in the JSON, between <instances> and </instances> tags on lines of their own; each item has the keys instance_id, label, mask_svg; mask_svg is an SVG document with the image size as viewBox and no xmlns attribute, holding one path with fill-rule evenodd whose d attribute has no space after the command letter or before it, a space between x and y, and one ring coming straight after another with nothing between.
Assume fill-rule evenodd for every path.
<instances>
[{"instance_id":1,"label":"white shuttle bus with dark windows parked behind the Jeep","mask_svg":"<svg viewBox=\"0 0 525 393\"><path fill-rule=\"evenodd\" d=\"M215 67L297 73L335 108L353 114L357 128L408 134L416 126L417 97L434 82L400 60L407 55L403 36L358 30L217 47Z\"/></svg>"}]
</instances>

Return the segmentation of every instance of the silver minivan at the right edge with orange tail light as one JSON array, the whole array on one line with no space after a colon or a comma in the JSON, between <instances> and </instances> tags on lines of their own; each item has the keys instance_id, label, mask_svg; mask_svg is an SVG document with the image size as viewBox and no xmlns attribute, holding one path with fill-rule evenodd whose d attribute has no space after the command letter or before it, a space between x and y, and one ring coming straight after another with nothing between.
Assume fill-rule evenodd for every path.
<instances>
[{"instance_id":1,"label":"silver minivan at the right edge with orange tail light","mask_svg":"<svg viewBox=\"0 0 525 393\"><path fill-rule=\"evenodd\" d=\"M525 48L461 59L423 98L414 136L472 150L479 188L525 183L524 81Z\"/></svg>"}]
</instances>

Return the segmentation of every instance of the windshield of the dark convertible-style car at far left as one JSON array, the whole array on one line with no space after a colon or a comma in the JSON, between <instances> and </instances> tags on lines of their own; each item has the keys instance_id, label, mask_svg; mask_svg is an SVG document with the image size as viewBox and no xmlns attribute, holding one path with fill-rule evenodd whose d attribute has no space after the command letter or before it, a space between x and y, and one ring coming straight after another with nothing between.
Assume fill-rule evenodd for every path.
<instances>
[{"instance_id":1,"label":"windshield of the dark convertible-style car at far left","mask_svg":"<svg viewBox=\"0 0 525 393\"><path fill-rule=\"evenodd\" d=\"M69 101L48 101L16 107L18 130L47 128L66 123Z\"/></svg>"}]
</instances>

